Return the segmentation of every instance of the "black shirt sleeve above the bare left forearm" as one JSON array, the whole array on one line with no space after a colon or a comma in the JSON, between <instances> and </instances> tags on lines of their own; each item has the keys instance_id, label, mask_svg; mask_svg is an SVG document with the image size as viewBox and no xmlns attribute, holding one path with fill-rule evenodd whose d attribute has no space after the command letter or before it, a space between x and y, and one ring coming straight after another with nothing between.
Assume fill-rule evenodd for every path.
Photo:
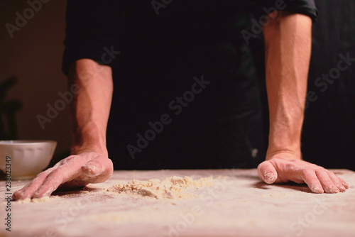
<instances>
[{"instance_id":1,"label":"black shirt sleeve above the bare left forearm","mask_svg":"<svg viewBox=\"0 0 355 237\"><path fill-rule=\"evenodd\" d=\"M62 71L68 75L70 65L76 60L89 58L102 64L107 61L107 51L118 50L120 1L68 0L66 13L65 50Z\"/></svg>"}]
</instances>

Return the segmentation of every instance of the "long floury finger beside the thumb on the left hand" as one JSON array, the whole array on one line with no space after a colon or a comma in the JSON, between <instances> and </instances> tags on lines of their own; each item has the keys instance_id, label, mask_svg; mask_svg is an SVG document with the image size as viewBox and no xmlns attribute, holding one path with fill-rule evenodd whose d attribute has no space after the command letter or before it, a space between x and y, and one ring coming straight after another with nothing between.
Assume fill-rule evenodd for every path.
<instances>
[{"instance_id":1,"label":"long floury finger beside the thumb on the left hand","mask_svg":"<svg viewBox=\"0 0 355 237\"><path fill-rule=\"evenodd\" d=\"M53 170L44 180L43 184L33 194L34 198L49 196L59 187L60 184L73 180L80 175L80 167L83 158L73 155L67 159L56 170Z\"/></svg>"}]
</instances>

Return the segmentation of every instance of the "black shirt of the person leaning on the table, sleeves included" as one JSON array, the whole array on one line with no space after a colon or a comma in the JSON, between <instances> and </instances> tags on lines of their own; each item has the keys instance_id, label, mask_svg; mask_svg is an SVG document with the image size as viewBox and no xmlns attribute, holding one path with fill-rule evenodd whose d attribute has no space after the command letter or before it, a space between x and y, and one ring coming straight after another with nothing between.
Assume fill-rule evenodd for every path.
<instances>
[{"instance_id":1,"label":"black shirt of the person leaning on the table, sleeves included","mask_svg":"<svg viewBox=\"0 0 355 237\"><path fill-rule=\"evenodd\" d=\"M113 68L107 145L116 169L264 159L248 45L273 9L317 16L313 1L68 1L63 71L80 58Z\"/></svg>"}]
</instances>

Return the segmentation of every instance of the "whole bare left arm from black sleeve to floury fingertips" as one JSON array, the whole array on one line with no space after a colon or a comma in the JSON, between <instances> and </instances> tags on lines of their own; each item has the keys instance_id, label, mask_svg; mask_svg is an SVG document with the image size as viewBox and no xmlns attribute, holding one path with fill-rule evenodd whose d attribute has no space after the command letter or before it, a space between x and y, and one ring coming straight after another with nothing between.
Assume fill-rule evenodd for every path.
<instances>
[{"instance_id":1,"label":"whole bare left arm from black sleeve to floury fingertips","mask_svg":"<svg viewBox=\"0 0 355 237\"><path fill-rule=\"evenodd\" d=\"M111 67L93 60L77 60L70 68L70 83L79 86L70 104L72 155L41 172L13 199L49 196L58 187L84 187L111 177L113 165L106 148L106 129L111 107Z\"/></svg>"}]
</instances>

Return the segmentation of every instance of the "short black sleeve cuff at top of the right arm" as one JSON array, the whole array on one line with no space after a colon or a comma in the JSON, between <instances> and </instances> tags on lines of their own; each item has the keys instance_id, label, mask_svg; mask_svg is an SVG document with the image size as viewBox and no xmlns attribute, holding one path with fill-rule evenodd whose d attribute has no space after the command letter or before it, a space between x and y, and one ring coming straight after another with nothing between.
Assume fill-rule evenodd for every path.
<instances>
[{"instance_id":1,"label":"short black sleeve cuff at top of the right arm","mask_svg":"<svg viewBox=\"0 0 355 237\"><path fill-rule=\"evenodd\" d=\"M310 16L315 22L318 10L314 0L254 0L251 1L251 11L253 16L260 18L268 15L272 11L290 11Z\"/></svg>"}]
</instances>

